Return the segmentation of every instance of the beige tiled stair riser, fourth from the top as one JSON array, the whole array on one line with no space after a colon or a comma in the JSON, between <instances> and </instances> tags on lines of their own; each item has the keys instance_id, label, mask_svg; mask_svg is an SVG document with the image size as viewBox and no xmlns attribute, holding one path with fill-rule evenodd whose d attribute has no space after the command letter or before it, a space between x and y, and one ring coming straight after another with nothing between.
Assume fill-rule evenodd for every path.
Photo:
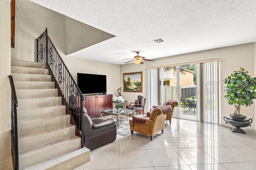
<instances>
[{"instance_id":1,"label":"beige tiled stair riser, fourth from the top","mask_svg":"<svg viewBox=\"0 0 256 170\"><path fill-rule=\"evenodd\" d=\"M53 89L54 82L14 81L15 89Z\"/></svg>"}]
</instances>

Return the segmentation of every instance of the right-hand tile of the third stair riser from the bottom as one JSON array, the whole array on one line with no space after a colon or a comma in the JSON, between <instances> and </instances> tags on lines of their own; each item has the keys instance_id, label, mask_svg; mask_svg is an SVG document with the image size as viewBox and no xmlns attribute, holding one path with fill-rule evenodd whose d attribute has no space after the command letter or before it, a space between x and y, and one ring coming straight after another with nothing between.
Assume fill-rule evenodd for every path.
<instances>
[{"instance_id":1,"label":"right-hand tile of the third stair riser from the bottom","mask_svg":"<svg viewBox=\"0 0 256 170\"><path fill-rule=\"evenodd\" d=\"M75 133L76 133L75 126L51 132L50 133L50 142L54 142L54 141L57 141L60 139L64 139L66 137L74 136Z\"/></svg>"}]
</instances>

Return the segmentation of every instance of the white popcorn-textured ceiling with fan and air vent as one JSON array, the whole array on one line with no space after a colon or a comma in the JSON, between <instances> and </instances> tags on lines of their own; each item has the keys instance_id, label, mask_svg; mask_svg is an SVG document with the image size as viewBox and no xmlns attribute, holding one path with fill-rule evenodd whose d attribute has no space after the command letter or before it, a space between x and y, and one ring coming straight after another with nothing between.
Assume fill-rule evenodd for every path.
<instances>
[{"instance_id":1,"label":"white popcorn-textured ceiling with fan and air vent","mask_svg":"<svg viewBox=\"0 0 256 170\"><path fill-rule=\"evenodd\" d=\"M158 59L256 42L256 0L30 1L116 35L70 55L84 59L124 64L136 51Z\"/></svg>"}]
</instances>

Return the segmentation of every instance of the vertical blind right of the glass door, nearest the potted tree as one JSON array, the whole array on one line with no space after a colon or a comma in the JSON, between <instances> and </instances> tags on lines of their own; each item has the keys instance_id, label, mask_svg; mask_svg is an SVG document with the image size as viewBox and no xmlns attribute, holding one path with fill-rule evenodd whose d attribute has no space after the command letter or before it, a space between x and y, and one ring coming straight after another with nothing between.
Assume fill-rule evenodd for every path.
<instances>
[{"instance_id":1,"label":"vertical blind right of the glass door, nearest the potted tree","mask_svg":"<svg viewBox=\"0 0 256 170\"><path fill-rule=\"evenodd\" d=\"M200 64L201 67L201 122L219 125L219 62Z\"/></svg>"}]
</instances>

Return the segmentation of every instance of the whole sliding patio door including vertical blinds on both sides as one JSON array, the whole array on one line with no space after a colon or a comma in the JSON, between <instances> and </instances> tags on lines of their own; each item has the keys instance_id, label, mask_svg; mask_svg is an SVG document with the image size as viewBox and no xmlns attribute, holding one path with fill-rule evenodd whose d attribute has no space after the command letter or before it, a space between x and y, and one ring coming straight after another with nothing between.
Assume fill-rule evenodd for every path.
<instances>
[{"instance_id":1,"label":"whole sliding patio door including vertical blinds on both sides","mask_svg":"<svg viewBox=\"0 0 256 170\"><path fill-rule=\"evenodd\" d=\"M219 59L148 69L148 110L173 99L172 117L219 125Z\"/></svg>"}]
</instances>

